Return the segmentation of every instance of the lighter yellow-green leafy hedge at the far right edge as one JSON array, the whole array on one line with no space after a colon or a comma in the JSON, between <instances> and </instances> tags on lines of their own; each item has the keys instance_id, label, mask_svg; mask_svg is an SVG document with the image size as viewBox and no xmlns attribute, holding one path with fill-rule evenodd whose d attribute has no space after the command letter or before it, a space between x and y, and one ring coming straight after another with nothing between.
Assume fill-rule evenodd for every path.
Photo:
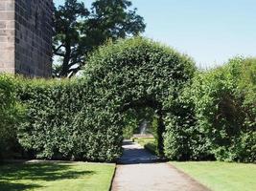
<instances>
[{"instance_id":1,"label":"lighter yellow-green leafy hedge at the far right edge","mask_svg":"<svg viewBox=\"0 0 256 191\"><path fill-rule=\"evenodd\" d=\"M256 160L256 113L251 107L256 100L255 69L255 60L235 58L195 79L192 89L199 87L194 89L197 125L206 134L216 159ZM248 73L254 79L246 78Z\"/></svg>"}]
</instances>

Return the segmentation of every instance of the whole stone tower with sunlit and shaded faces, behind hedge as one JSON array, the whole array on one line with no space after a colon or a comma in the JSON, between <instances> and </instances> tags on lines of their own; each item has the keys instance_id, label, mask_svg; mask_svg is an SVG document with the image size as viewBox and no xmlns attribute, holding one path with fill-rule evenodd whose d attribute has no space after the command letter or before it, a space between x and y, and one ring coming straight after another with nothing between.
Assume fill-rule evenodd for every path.
<instances>
[{"instance_id":1,"label":"whole stone tower with sunlit and shaded faces, behind hedge","mask_svg":"<svg viewBox=\"0 0 256 191\"><path fill-rule=\"evenodd\" d=\"M53 0L0 0L0 73L51 76Z\"/></svg>"}]
</instances>

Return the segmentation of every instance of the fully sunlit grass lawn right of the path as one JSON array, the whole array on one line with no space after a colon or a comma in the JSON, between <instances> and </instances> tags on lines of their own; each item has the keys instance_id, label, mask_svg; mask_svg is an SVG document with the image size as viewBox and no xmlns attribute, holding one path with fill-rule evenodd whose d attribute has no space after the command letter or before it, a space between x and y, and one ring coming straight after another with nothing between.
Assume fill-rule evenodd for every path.
<instances>
[{"instance_id":1,"label":"fully sunlit grass lawn right of the path","mask_svg":"<svg viewBox=\"0 0 256 191\"><path fill-rule=\"evenodd\" d=\"M256 190L256 164L220 161L171 162L215 191Z\"/></svg>"}]
</instances>

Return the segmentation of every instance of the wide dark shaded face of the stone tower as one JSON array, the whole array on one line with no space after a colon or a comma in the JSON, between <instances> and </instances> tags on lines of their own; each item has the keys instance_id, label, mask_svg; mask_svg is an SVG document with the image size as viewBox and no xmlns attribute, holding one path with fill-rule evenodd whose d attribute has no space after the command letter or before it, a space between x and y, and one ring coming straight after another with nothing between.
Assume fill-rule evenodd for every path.
<instances>
[{"instance_id":1,"label":"wide dark shaded face of the stone tower","mask_svg":"<svg viewBox=\"0 0 256 191\"><path fill-rule=\"evenodd\" d=\"M53 0L15 0L15 73L50 76Z\"/></svg>"}]
</instances>

